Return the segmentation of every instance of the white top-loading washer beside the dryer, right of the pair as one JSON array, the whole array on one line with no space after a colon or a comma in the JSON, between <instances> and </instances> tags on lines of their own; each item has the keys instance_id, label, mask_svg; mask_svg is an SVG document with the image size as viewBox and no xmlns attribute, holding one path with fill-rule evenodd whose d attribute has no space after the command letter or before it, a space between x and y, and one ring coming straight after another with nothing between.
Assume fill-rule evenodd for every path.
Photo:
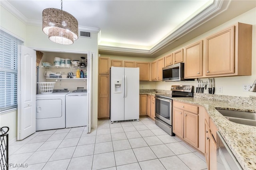
<instances>
[{"instance_id":1,"label":"white top-loading washer beside the dryer, right of the pair","mask_svg":"<svg viewBox=\"0 0 256 170\"><path fill-rule=\"evenodd\" d=\"M66 95L66 128L87 126L87 90L74 90Z\"/></svg>"}]
</instances>

